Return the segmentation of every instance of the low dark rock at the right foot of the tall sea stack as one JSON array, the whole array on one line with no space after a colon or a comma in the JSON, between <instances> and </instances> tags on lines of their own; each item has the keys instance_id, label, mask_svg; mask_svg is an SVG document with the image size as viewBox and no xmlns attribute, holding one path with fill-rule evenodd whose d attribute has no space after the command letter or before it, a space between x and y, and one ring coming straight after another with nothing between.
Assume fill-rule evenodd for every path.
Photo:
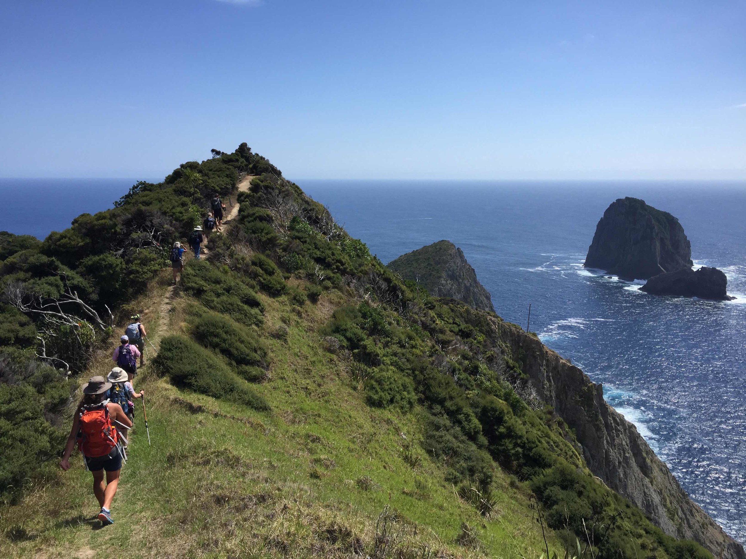
<instances>
[{"instance_id":1,"label":"low dark rock at the right foot of the tall sea stack","mask_svg":"<svg viewBox=\"0 0 746 559\"><path fill-rule=\"evenodd\" d=\"M667 274L658 274L648 279L640 290L653 295L674 295L680 297L699 297L716 301L730 301L726 293L728 279L718 268L700 268L693 271L686 268Z\"/></svg>"}]
</instances>

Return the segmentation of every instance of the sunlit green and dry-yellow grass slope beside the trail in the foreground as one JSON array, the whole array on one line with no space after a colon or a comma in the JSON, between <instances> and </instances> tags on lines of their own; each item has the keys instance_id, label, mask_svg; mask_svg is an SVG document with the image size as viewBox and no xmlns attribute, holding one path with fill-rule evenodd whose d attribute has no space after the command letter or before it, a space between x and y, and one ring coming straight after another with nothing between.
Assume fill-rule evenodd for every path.
<instances>
[{"instance_id":1,"label":"sunlit green and dry-yellow grass slope beside the trail in the foreground","mask_svg":"<svg viewBox=\"0 0 746 559\"><path fill-rule=\"evenodd\" d=\"M538 557L544 544L527 487L498 473L500 512L484 522L421 449L415 451L420 464L407 464L407 441L421 436L418 415L370 408L348 365L310 331L339 302L339 294L324 297L298 316L289 300L266 298L262 332L275 356L272 381L254 388L274 412L146 376L138 388L148 394L153 446L137 417L113 508L116 523L93 529L90 474L76 464L61 485L3 511L0 549L13 557L69 557L89 549L109 557L343 556L357 546L371 552L375 522L388 507L398 515L397 549ZM188 335L186 303L178 301L169 332ZM286 339L268 335L280 325ZM455 543L463 522L479 544Z\"/></svg>"}]
</instances>

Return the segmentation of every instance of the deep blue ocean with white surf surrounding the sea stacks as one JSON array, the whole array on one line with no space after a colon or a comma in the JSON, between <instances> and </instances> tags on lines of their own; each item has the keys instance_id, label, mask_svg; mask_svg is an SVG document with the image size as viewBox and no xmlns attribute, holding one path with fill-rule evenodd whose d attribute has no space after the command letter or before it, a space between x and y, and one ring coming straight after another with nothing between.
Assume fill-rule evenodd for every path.
<instances>
[{"instance_id":1,"label":"deep blue ocean with white surf surrounding the sea stacks","mask_svg":"<svg viewBox=\"0 0 746 559\"><path fill-rule=\"evenodd\" d=\"M45 237L111 206L134 180L0 179L0 230ZM300 180L383 262L461 247L505 320L595 381L684 489L746 543L746 183ZM727 303L656 297L583 269L604 209L635 196L679 218Z\"/></svg>"}]
</instances>

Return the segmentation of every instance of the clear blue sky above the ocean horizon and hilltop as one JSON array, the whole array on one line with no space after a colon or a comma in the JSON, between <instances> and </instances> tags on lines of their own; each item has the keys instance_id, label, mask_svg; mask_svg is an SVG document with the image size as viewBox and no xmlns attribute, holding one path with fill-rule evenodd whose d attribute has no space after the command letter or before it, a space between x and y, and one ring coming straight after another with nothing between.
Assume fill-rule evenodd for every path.
<instances>
[{"instance_id":1,"label":"clear blue sky above the ocean horizon and hilltop","mask_svg":"<svg viewBox=\"0 0 746 559\"><path fill-rule=\"evenodd\" d=\"M744 1L0 0L0 176L746 179Z\"/></svg>"}]
</instances>

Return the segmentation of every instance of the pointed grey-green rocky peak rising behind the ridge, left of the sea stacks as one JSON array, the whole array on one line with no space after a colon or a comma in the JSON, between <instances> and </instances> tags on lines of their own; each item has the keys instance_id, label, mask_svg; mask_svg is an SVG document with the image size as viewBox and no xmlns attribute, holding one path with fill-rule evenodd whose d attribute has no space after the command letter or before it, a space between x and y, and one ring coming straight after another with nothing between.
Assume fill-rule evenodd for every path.
<instances>
[{"instance_id":1,"label":"pointed grey-green rocky peak rising behind the ridge, left of the sea stacks","mask_svg":"<svg viewBox=\"0 0 746 559\"><path fill-rule=\"evenodd\" d=\"M386 266L403 279L418 282L436 297L451 297L474 309L495 312L489 291L479 282L461 249L451 241L428 244Z\"/></svg>"}]
</instances>

